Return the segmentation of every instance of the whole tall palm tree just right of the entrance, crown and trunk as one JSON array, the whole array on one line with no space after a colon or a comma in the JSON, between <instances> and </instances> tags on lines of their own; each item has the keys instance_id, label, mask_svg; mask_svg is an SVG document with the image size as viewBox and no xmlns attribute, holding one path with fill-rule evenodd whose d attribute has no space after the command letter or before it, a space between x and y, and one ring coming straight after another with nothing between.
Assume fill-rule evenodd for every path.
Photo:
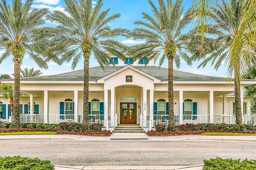
<instances>
[{"instance_id":1,"label":"whole tall palm tree just right of the entrance, crown and trunk","mask_svg":"<svg viewBox=\"0 0 256 170\"><path fill-rule=\"evenodd\" d=\"M142 61L153 59L157 53L164 50L161 56L159 66L165 59L168 60L168 101L169 101L169 124L168 128L174 125L174 104L173 104L173 62L179 68L180 58L191 65L187 52L194 54L192 39L194 38L191 31L183 33L183 29L192 23L195 18L195 10L189 8L184 14L184 6L182 0L172 3L171 0L158 0L159 9L151 0L148 0L152 7L154 17L143 12L145 21L135 21L136 25L143 25L143 28L135 27L132 33L134 39L143 39L145 43L132 46L129 51L134 60ZM182 32L182 33L181 33ZM199 54L198 54L199 55ZM147 63L147 62L146 62Z\"/></svg>"}]
</instances>

